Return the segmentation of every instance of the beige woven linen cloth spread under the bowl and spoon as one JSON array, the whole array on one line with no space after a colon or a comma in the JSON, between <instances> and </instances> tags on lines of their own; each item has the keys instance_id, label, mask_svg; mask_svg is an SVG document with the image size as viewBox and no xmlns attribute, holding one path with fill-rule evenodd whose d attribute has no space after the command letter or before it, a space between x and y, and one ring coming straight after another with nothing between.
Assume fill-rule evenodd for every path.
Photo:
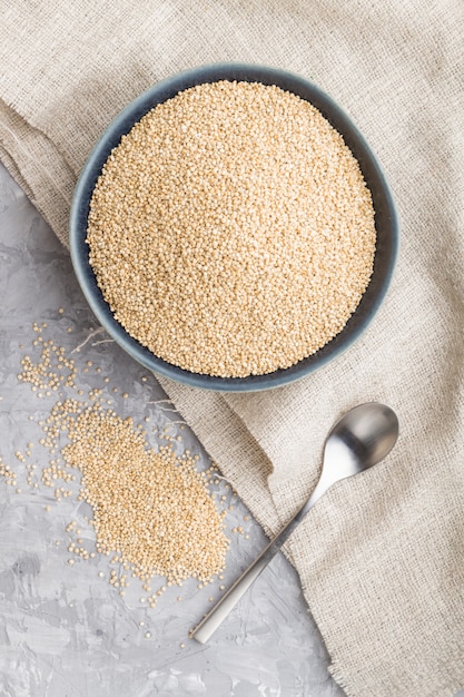
<instances>
[{"instance_id":1,"label":"beige woven linen cloth spread under the bowl and spoon","mask_svg":"<svg viewBox=\"0 0 464 697\"><path fill-rule=\"evenodd\" d=\"M393 406L388 459L340 482L288 552L354 697L464 685L464 3L462 0L0 1L0 157L67 243L72 188L110 119L160 78L246 61L312 78L379 157L397 269L345 354L278 391L162 381L267 532L310 493L357 403Z\"/></svg>"}]
</instances>

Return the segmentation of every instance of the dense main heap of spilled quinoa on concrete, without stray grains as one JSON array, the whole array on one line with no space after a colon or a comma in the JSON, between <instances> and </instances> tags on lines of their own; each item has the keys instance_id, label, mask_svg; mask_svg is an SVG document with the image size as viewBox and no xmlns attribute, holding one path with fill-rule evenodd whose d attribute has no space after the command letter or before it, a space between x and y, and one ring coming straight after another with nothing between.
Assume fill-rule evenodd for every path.
<instances>
[{"instance_id":1,"label":"dense main heap of spilled quinoa on concrete, without stray grains","mask_svg":"<svg viewBox=\"0 0 464 697\"><path fill-rule=\"evenodd\" d=\"M68 405L61 409L67 420ZM156 452L131 420L98 404L67 423L69 443L61 452L82 472L98 551L117 550L112 562L131 565L142 580L165 576L169 585L194 575L206 581L224 569L224 522L191 457L179 458L169 446Z\"/></svg>"}]
</instances>

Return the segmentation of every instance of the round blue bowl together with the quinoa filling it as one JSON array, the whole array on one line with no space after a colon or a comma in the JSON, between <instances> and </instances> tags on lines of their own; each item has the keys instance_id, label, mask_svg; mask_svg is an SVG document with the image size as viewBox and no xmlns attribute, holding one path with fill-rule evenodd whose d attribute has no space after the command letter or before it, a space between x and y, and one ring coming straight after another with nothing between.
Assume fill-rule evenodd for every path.
<instances>
[{"instance_id":1,"label":"round blue bowl together with the quinoa filling it","mask_svg":"<svg viewBox=\"0 0 464 697\"><path fill-rule=\"evenodd\" d=\"M227 63L117 117L70 233L109 333L155 372L225 391L292 382L346 348L397 246L387 184L346 115L303 78Z\"/></svg>"}]
</instances>

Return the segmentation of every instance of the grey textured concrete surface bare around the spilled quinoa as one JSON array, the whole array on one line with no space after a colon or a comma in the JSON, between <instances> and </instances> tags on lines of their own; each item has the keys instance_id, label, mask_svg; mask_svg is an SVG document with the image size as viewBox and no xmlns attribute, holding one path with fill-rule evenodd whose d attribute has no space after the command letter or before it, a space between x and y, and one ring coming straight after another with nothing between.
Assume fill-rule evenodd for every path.
<instances>
[{"instance_id":1,"label":"grey textured concrete surface bare around the spilled quinoa","mask_svg":"<svg viewBox=\"0 0 464 697\"><path fill-rule=\"evenodd\" d=\"M81 544L91 551L95 538L86 520L91 511L77 499L79 481L60 501L40 481L50 454L39 443L38 422L57 395L39 397L17 377L21 357L38 355L31 345L33 322L46 323L43 337L65 346L76 361L85 394L102 389L119 414L136 423L147 416L150 429L181 435L176 448L198 453L200 468L209 461L162 402L155 379L98 331L68 252L1 166L0 264L0 457L18 473L16 487L0 477L0 697L340 697L298 577L282 556L209 646L188 638L211 607L209 598L220 596L219 585L228 587L266 543L259 526L251 518L244 521L248 511L224 481L215 497L226 495L233 510L226 518L231 547L223 581L203 589L194 580L181 590L169 588L151 609L137 579L124 598L108 583L110 569L117 569L110 558L97 554L68 565L68 546L78 536L66 527L76 521ZM83 372L89 360L92 369ZM21 462L14 453L24 454L30 442L31 455ZM37 465L30 484L28 463ZM238 524L249 539L231 532ZM154 581L152 589L162 582Z\"/></svg>"}]
</instances>

